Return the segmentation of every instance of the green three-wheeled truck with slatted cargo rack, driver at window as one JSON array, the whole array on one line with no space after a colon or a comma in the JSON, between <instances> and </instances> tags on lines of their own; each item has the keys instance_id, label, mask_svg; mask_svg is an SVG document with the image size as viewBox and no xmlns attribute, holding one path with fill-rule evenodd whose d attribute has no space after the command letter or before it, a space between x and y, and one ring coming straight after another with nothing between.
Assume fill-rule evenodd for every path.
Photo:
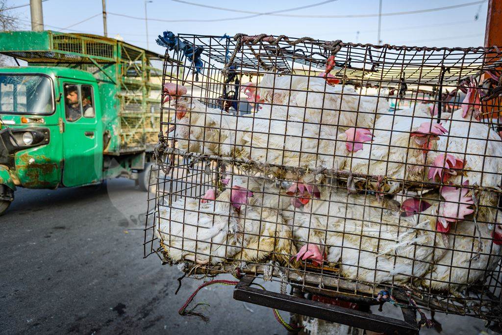
<instances>
[{"instance_id":1,"label":"green three-wheeled truck with slatted cargo rack, driver at window","mask_svg":"<svg viewBox=\"0 0 502 335\"><path fill-rule=\"evenodd\" d=\"M127 177L148 190L160 123L158 54L53 31L0 33L0 53L28 62L0 68L0 214L17 187Z\"/></svg>"}]
</instances>

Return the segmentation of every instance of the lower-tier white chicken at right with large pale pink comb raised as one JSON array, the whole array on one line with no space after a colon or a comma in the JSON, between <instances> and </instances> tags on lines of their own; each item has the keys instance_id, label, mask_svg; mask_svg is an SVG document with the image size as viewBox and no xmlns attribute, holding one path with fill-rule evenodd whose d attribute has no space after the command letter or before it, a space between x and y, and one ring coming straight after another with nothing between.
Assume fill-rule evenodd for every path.
<instances>
[{"instance_id":1,"label":"lower-tier white chicken at right with large pale pink comb raised","mask_svg":"<svg viewBox=\"0 0 502 335\"><path fill-rule=\"evenodd\" d=\"M330 248L329 261L341 257L341 273L351 279L371 282L405 282L423 276L449 245L450 225L471 214L467 189L443 187L426 199L410 198L401 206L401 216L384 212L353 222L356 234L345 234L342 248ZM457 196L458 195L458 196ZM458 204L458 197L463 204ZM451 202L456 197L457 202ZM436 199L436 200L434 200ZM371 222L382 222L381 225ZM445 228L446 227L446 228ZM331 259L330 259L331 258Z\"/></svg>"}]
</instances>

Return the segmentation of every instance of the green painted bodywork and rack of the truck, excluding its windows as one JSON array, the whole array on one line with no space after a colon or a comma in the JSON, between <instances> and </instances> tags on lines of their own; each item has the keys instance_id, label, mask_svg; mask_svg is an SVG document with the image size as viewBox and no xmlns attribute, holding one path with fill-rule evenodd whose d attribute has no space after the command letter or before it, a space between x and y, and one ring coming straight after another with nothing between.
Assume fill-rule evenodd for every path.
<instances>
[{"instance_id":1,"label":"green painted bodywork and rack of the truck, excluding its windows","mask_svg":"<svg viewBox=\"0 0 502 335\"><path fill-rule=\"evenodd\" d=\"M120 175L132 175L132 162L153 150L162 81L157 54L115 39L52 31L0 33L0 53L28 62L27 67L0 68L0 73L45 74L53 82L57 101L54 114L43 116L39 125L21 122L29 115L0 114L8 127L43 126L51 133L48 145L16 154L13 183L55 188L117 176L117 168L109 172L103 168L103 156L114 157ZM94 120L65 120L63 82L94 87ZM93 138L86 132L93 132ZM105 148L104 133L111 135Z\"/></svg>"}]
</instances>

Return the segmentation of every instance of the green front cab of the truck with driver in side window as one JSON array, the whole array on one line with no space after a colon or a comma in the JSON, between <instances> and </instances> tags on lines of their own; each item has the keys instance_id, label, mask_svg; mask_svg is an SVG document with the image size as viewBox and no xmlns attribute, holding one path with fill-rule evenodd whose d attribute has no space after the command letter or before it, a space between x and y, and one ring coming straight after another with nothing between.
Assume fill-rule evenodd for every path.
<instances>
[{"instance_id":1,"label":"green front cab of the truck with driver in side window","mask_svg":"<svg viewBox=\"0 0 502 335\"><path fill-rule=\"evenodd\" d=\"M0 145L8 152L0 163L12 171L14 184L57 188L102 180L101 105L95 93L97 81L87 72L63 67L0 69ZM67 98L71 95L78 99L74 104ZM0 170L0 178L7 179L5 167Z\"/></svg>"}]
</instances>

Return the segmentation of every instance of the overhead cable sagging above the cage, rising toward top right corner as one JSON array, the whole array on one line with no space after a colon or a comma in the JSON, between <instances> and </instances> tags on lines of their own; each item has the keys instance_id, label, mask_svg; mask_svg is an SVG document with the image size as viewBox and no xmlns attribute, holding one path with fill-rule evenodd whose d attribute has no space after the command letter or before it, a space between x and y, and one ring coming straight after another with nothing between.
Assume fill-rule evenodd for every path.
<instances>
[{"instance_id":1,"label":"overhead cable sagging above the cage, rising toward top right corner","mask_svg":"<svg viewBox=\"0 0 502 335\"><path fill-rule=\"evenodd\" d=\"M290 18L342 19L342 18L373 18L373 17L378 17L379 16L379 13L375 13L375 14L353 14L353 15L352 14L348 14L348 15L279 14L280 11L262 13L262 12L252 12L252 11L235 10L235 9L223 8L223 7L215 7L215 6L209 6L209 5L192 3L192 2L188 2L188 1L184 1L184 0L171 0L171 1L176 2L176 3L186 4L186 5L192 5L192 6L210 8L210 9L227 11L227 12L246 13L246 14L255 14L255 15L283 16L283 17L290 17ZM446 10L451 10L451 9L455 9L455 8L461 8L461 7L479 5L479 4L483 4L485 2L486 2L486 0L480 0L480 1L474 1L474 2L465 3L465 4L458 4L458 5L452 5L452 6L437 7L437 8L428 8L428 9L424 9L424 10L382 13L382 16L409 15L409 14L420 14L420 13L428 13L428 12L446 11ZM319 5L316 5L316 6L319 6ZM305 7L306 6L304 6L304 8ZM242 18L246 18L246 17L242 17ZM238 19L238 18L232 18L232 19ZM221 21L221 19L219 21Z\"/></svg>"}]
</instances>

